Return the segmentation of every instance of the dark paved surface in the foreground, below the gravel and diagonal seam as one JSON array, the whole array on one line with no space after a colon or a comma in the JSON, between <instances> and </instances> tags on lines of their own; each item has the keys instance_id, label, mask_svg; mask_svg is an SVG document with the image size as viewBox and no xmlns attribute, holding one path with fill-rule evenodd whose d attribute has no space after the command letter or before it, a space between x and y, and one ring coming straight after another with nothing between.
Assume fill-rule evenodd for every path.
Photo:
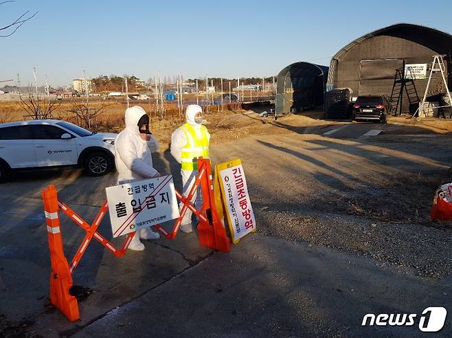
<instances>
[{"instance_id":1,"label":"dark paved surface in the foreground, below the gravel and diagonal seam","mask_svg":"<svg viewBox=\"0 0 452 338\"><path fill-rule=\"evenodd\" d=\"M411 272L256 235L75 337L422 337L420 313L450 306L452 279L431 285ZM361 326L366 313L416 313L416 325ZM436 337L450 337L450 324Z\"/></svg>"}]
</instances>

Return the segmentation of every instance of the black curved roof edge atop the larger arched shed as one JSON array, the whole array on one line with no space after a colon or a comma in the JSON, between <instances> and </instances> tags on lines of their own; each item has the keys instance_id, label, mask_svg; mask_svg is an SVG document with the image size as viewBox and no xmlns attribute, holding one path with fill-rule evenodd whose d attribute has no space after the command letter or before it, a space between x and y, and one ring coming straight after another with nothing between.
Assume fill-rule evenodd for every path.
<instances>
[{"instance_id":1,"label":"black curved roof edge atop the larger arched shed","mask_svg":"<svg viewBox=\"0 0 452 338\"><path fill-rule=\"evenodd\" d=\"M428 47L429 49L436 51L439 54L448 54L452 50L452 36L450 34L425 27L421 25L412 25L411 23L397 23L396 25L387 26L381 29L377 29L374 32L370 32L357 38L339 50L333 59L339 59L343 53L348 51L355 45L359 45L364 40L373 38L374 36L394 36L396 38L403 38L405 40L413 41L419 45Z\"/></svg>"}]
</instances>

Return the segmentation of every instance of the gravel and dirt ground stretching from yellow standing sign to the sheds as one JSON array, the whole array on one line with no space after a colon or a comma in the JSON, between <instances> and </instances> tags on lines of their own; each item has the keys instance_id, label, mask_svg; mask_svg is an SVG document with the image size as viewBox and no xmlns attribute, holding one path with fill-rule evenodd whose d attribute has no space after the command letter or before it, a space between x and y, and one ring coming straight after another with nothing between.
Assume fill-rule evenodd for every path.
<instances>
[{"instance_id":1,"label":"gravel and dirt ground stretching from yellow standing sign to the sheds","mask_svg":"<svg viewBox=\"0 0 452 338\"><path fill-rule=\"evenodd\" d=\"M452 225L429 220L436 188L452 182L451 136L425 130L425 138L409 138L400 136L409 129L392 125L380 138L331 140L293 127L296 119L282 135L217 149L245 159L259 232L414 268L419 276L451 274Z\"/></svg>"}]
</instances>

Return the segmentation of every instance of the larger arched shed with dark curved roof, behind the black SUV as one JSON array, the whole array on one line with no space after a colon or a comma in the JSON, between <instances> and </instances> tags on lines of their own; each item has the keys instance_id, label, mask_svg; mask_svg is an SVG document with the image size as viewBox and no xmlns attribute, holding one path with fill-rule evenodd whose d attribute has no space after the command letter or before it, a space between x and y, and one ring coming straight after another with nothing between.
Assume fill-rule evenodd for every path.
<instances>
[{"instance_id":1,"label":"larger arched shed with dark curved roof, behind the black SUV","mask_svg":"<svg viewBox=\"0 0 452 338\"><path fill-rule=\"evenodd\" d=\"M384 27L357 38L332 57L327 90L350 88L352 97L390 97L397 69L403 71L406 64L427 65L425 76L428 78L433 55L438 54L447 56L448 86L451 88L451 50L452 36L437 29L408 23ZM427 80L420 77L416 77L414 83L418 96L422 98ZM440 91L440 79L435 79L431 88ZM408 108L406 96L405 93L405 111Z\"/></svg>"}]
</instances>

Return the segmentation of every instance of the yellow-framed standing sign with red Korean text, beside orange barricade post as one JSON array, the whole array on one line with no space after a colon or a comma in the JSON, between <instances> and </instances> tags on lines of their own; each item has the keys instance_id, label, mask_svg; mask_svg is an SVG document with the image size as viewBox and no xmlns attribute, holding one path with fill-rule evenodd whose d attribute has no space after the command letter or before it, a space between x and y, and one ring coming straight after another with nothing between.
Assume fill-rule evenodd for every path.
<instances>
[{"instance_id":1,"label":"yellow-framed standing sign with red Korean text, beside orange barricade post","mask_svg":"<svg viewBox=\"0 0 452 338\"><path fill-rule=\"evenodd\" d=\"M256 232L247 180L240 159L215 166L215 202L220 217L227 219L232 243L236 244L250 232ZM219 208L223 206L223 208Z\"/></svg>"}]
</instances>

